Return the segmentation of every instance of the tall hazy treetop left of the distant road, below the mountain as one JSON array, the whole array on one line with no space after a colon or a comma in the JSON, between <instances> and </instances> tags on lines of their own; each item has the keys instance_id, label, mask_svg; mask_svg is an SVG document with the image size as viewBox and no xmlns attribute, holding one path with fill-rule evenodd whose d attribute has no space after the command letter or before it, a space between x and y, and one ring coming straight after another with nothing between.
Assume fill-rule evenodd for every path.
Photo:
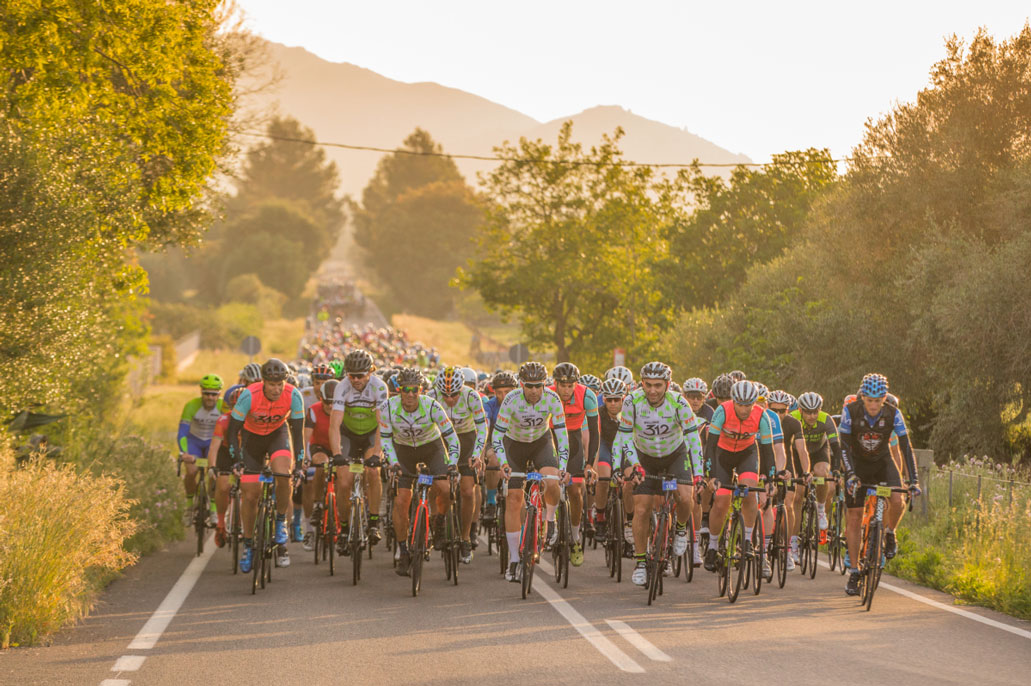
<instances>
[{"instance_id":1,"label":"tall hazy treetop left of the distant road, below the mountain","mask_svg":"<svg viewBox=\"0 0 1031 686\"><path fill-rule=\"evenodd\" d=\"M267 141L247 152L230 215L246 214L270 199L286 200L319 225L332 248L344 219L343 201L336 197L336 164L313 144L314 132L293 118L273 119L267 134Z\"/></svg>"}]
</instances>

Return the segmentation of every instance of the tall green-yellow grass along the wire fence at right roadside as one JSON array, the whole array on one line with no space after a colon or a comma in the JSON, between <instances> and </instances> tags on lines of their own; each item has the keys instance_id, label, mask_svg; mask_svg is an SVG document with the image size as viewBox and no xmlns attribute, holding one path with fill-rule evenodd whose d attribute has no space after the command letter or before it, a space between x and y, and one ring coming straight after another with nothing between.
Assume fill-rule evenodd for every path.
<instances>
[{"instance_id":1,"label":"tall green-yellow grass along the wire fence at right roadside","mask_svg":"<svg viewBox=\"0 0 1031 686\"><path fill-rule=\"evenodd\" d=\"M926 485L929 515L903 520L899 555L888 570L963 600L1031 619L1031 487L1020 482L1031 478L985 459L964 458L936 467Z\"/></svg>"}]
</instances>

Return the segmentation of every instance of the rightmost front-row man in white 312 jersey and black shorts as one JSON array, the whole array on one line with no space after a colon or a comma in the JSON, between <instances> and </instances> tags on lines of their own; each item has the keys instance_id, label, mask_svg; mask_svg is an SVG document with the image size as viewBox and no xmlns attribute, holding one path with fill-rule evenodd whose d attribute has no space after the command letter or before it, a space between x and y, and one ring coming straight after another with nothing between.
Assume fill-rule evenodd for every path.
<instances>
[{"instance_id":1,"label":"rightmost front-row man in white 312 jersey and black shorts","mask_svg":"<svg viewBox=\"0 0 1031 686\"><path fill-rule=\"evenodd\" d=\"M652 510L662 496L662 484L643 476L673 475L677 481L676 531L673 555L688 549L688 518L694 504L693 482L701 482L702 446L699 422L683 395L669 390L672 370L664 362L641 367L641 388L623 400L620 431L612 447L623 455L627 470L635 469L634 557L637 561L631 581L647 583L645 553ZM663 570L657 570L663 574Z\"/></svg>"}]
</instances>

